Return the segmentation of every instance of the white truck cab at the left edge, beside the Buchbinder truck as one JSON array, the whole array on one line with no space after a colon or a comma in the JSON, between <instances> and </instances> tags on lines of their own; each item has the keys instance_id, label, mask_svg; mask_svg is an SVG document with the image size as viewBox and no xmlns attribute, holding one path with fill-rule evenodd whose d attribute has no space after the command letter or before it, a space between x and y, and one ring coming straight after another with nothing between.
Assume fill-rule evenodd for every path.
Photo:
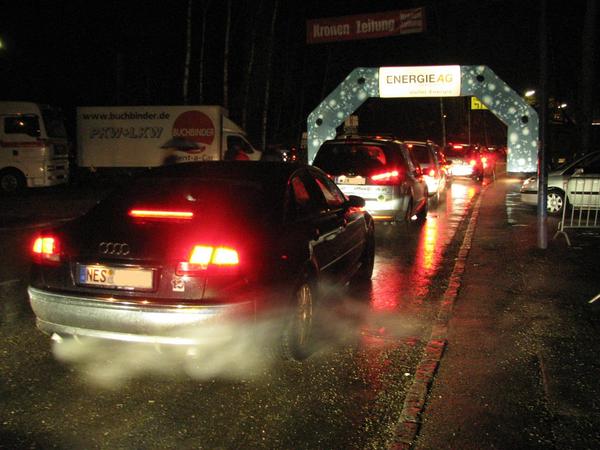
<instances>
[{"instance_id":1,"label":"white truck cab at the left edge, beside the Buchbinder truck","mask_svg":"<svg viewBox=\"0 0 600 450\"><path fill-rule=\"evenodd\" d=\"M62 114L48 105L0 101L0 192L69 180Z\"/></svg>"}]
</instances>

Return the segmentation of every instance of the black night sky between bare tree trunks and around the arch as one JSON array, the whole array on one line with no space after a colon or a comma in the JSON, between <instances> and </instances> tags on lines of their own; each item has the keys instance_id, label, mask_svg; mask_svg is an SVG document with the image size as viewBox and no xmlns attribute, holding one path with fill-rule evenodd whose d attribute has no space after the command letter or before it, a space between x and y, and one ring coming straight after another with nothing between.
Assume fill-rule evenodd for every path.
<instances>
[{"instance_id":1,"label":"black night sky between bare tree trunks and around the arch","mask_svg":"<svg viewBox=\"0 0 600 450\"><path fill-rule=\"evenodd\" d=\"M324 95L355 67L460 64L489 66L517 92L539 84L539 1L285 1L279 0L273 67L267 75L270 22L276 0L234 1L228 109L239 119L251 44L255 66L247 131L260 136L263 93L271 143L297 140ZM198 101L202 10L194 0L190 103ZM0 95L60 106L182 104L187 0L0 1ZM207 104L223 101L226 2L208 2L205 40ZM549 2L549 95L579 102L586 2ZM393 38L306 45L306 20L425 7L427 31ZM597 61L595 62L597 65ZM596 90L598 95L598 90ZM598 98L595 99L596 104ZM446 99L450 134L460 135L465 99ZM369 131L439 137L439 101L369 100L359 113ZM575 112L574 112L575 113ZM484 114L491 114L485 112ZM481 123L501 134L493 118ZM489 119L489 120L488 120ZM483 120L483 119L482 119ZM487 124L487 125L486 125ZM72 125L72 124L71 124ZM408 136L407 136L408 137Z\"/></svg>"}]
</instances>

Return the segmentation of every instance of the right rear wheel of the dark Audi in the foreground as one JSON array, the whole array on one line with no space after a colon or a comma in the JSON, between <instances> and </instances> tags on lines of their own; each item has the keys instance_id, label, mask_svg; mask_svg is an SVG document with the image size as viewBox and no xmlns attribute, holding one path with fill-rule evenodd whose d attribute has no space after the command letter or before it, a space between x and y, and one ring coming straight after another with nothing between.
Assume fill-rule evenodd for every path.
<instances>
[{"instance_id":1,"label":"right rear wheel of the dark Audi in the foreground","mask_svg":"<svg viewBox=\"0 0 600 450\"><path fill-rule=\"evenodd\" d=\"M302 361L314 352L316 282L308 275L294 289L290 312L281 337L283 359Z\"/></svg>"}]
</instances>

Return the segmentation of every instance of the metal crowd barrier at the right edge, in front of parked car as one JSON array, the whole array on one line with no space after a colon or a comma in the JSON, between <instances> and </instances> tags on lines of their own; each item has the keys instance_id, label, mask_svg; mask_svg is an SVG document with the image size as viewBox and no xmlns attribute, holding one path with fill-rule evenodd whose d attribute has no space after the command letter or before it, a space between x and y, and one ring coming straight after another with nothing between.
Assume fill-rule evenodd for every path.
<instances>
[{"instance_id":1,"label":"metal crowd barrier at the right edge, in front of parked car","mask_svg":"<svg viewBox=\"0 0 600 450\"><path fill-rule=\"evenodd\" d=\"M565 207L558 224L558 235L563 235L569 247L568 229L600 229L600 175L569 178L565 193Z\"/></svg>"}]
</instances>

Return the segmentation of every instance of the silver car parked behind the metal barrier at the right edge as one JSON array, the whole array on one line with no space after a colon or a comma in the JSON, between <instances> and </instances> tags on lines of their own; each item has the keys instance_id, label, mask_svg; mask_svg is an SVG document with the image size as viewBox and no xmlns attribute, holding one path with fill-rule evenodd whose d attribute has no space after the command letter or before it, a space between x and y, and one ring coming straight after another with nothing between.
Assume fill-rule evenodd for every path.
<instances>
[{"instance_id":1,"label":"silver car parked behind the metal barrier at the right edge","mask_svg":"<svg viewBox=\"0 0 600 450\"><path fill-rule=\"evenodd\" d=\"M600 174L600 151L591 152L548 173L548 194L546 209L548 214L560 215L565 207L567 182L572 176ZM527 178L521 185L521 201L527 205L537 205L538 178Z\"/></svg>"}]
</instances>

